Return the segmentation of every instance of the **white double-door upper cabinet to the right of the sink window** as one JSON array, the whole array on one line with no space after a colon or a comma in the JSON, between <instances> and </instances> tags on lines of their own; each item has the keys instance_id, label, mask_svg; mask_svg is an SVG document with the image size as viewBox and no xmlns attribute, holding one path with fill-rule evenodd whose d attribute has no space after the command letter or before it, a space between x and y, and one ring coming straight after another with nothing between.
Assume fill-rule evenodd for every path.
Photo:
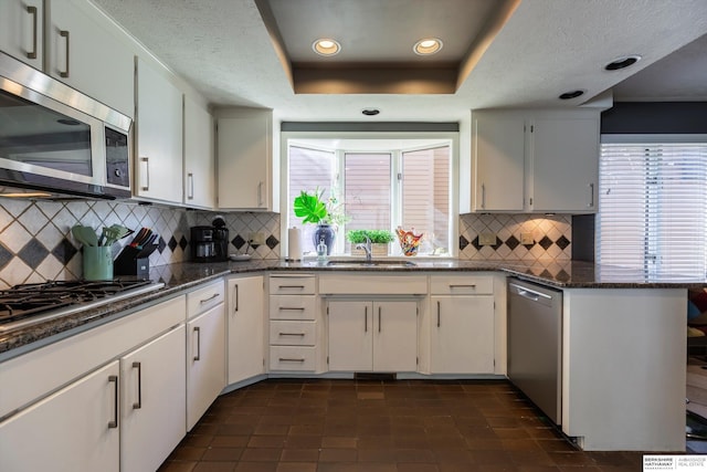
<instances>
[{"instance_id":1,"label":"white double-door upper cabinet to the right of the sink window","mask_svg":"<svg viewBox=\"0 0 707 472\"><path fill-rule=\"evenodd\" d=\"M474 211L597 211L599 112L474 111Z\"/></svg>"}]
</instances>

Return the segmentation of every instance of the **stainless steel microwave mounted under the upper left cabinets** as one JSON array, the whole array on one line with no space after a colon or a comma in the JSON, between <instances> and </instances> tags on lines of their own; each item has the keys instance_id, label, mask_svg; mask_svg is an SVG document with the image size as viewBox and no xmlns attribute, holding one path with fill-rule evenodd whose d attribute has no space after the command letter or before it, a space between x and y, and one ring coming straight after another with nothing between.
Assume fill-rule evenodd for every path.
<instances>
[{"instance_id":1,"label":"stainless steel microwave mounted under the upper left cabinets","mask_svg":"<svg viewBox=\"0 0 707 472\"><path fill-rule=\"evenodd\" d=\"M131 124L0 52L0 196L129 198Z\"/></svg>"}]
</instances>

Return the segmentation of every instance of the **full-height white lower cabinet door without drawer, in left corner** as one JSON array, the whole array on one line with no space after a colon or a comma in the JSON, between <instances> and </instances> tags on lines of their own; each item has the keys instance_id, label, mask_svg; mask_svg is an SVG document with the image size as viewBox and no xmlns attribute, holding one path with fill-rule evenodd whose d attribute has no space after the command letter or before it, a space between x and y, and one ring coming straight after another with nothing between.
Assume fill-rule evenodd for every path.
<instances>
[{"instance_id":1,"label":"full-height white lower cabinet door without drawer, in left corner","mask_svg":"<svg viewBox=\"0 0 707 472\"><path fill-rule=\"evenodd\" d=\"M233 277L228 291L228 384L265 371L263 276Z\"/></svg>"}]
</instances>

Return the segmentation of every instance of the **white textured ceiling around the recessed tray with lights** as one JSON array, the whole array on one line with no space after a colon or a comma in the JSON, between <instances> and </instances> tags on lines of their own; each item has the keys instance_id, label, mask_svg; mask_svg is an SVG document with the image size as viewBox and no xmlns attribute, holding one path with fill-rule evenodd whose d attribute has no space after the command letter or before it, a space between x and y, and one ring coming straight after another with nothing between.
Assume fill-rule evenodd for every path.
<instances>
[{"instance_id":1,"label":"white textured ceiling around the recessed tray with lights","mask_svg":"<svg viewBox=\"0 0 707 472\"><path fill-rule=\"evenodd\" d=\"M658 62L707 33L705 0L523 0L503 28L492 35L493 41L482 44L469 63L473 67L457 71L461 81L455 91L443 94L394 91L296 94L292 72L287 70L287 64L292 64L288 51L304 54L314 39L327 35L323 29L327 22L317 21L321 6L310 10L308 4L368 6L357 14L333 15L339 20L336 30L342 44L373 30L382 34L378 40L381 44L387 39L392 43L400 40L402 44L408 42L401 40L403 32L419 30L414 36L426 35L424 19L431 13L414 8L430 3L422 0L394 0L399 14L395 11L379 13L374 6L387 4L380 0L287 0L287 8L302 9L295 15L296 25L287 28L308 33L312 41L305 45L285 44L284 50L278 50L273 42L272 30L263 21L255 0L92 1L172 71L192 83L211 104L268 107L278 119L450 122L467 118L469 109L482 107L576 106L618 84L616 97L623 99L659 99L666 94L669 99L707 98L704 40L701 46L698 42L686 49L695 56L687 69L666 70ZM285 3L285 0L271 1L273 11L277 11L278 1ZM439 6L441 22L460 13L456 1L433 3ZM464 3L479 8L474 17L477 19L485 18L489 3L496 0ZM384 22L374 21L379 14L386 18ZM473 13L464 13L469 14ZM469 19L469 28L474 24L483 28L474 19ZM450 39L444 40L447 51L463 50L463 43L476 38L474 34L461 38L460 31L464 28L460 23L450 27ZM454 44L455 41L458 44ZM299 52L296 54L299 57ZM603 70L605 63L627 54L641 54L643 59L629 70ZM665 61L669 60L672 57ZM700 65L695 66L695 61ZM386 59L386 62L397 61ZM655 66L650 67L654 63ZM646 78L642 77L644 69ZM686 77L690 74L692 78ZM584 96L558 101L562 92L577 88L584 90ZM362 116L361 109L369 107L379 108L380 115Z\"/></svg>"}]
</instances>

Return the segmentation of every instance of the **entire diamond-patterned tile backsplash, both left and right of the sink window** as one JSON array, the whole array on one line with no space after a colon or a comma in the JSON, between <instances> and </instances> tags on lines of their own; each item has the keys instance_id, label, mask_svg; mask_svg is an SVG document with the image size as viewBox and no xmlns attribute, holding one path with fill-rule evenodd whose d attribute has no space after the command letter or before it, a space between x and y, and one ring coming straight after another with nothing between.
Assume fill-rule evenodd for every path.
<instances>
[{"instance_id":1,"label":"entire diamond-patterned tile backsplash, both left and right of the sink window","mask_svg":"<svg viewBox=\"0 0 707 472\"><path fill-rule=\"evenodd\" d=\"M73 280L82 275L81 244L71 228L81 223L101 231L114 223L160 234L150 265L191 259L189 228L211 225L223 217L229 229L230 253L254 259L279 259L281 220L277 213L219 213L158 204L93 200L32 201L0 198L0 289L46 280ZM569 260L571 217L532 214L462 214L458 256L465 260ZM264 244L247 247L252 233ZM482 234L495 234L496 244L482 245ZM521 244L531 234L532 244ZM116 243L116 255L130 237Z\"/></svg>"}]
</instances>

